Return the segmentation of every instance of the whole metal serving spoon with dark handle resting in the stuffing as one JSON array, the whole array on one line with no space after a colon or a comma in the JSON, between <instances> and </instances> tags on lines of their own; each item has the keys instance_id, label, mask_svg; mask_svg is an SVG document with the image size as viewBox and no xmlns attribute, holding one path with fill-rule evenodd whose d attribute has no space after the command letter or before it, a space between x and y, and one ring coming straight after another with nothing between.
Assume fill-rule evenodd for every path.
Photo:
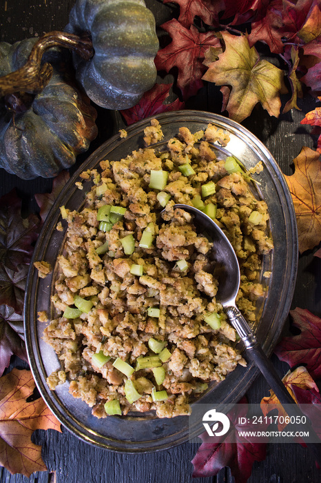
<instances>
[{"instance_id":1,"label":"whole metal serving spoon with dark handle resting in the stuffing","mask_svg":"<svg viewBox=\"0 0 321 483\"><path fill-rule=\"evenodd\" d=\"M271 387L278 397L280 404L286 405L285 410L289 416L300 416L302 418L303 413L300 411L298 404L293 400L289 391L282 383L276 369L271 361L260 346L256 336L251 331L249 324L242 316L238 307L236 306L236 296L238 295L238 289L240 286L240 266L238 259L234 251L233 246L229 242L229 239L220 229L220 227L210 217L205 215L202 211L185 204L176 204L174 208L181 208L188 213L194 215L194 225L200 233L207 233L211 239L213 239L213 255L216 265L219 266L218 271L218 293L216 299L222 304L229 321L236 329L236 332L240 336L240 339L245 344L247 354L255 362L256 366L260 369L262 375L267 380L269 387ZM300 419L301 420L301 419ZM308 443L309 447L313 451L319 464L321 462L321 442L318 435L313 431L313 428L309 425L304 427L304 431L310 431L310 437L316 444ZM309 440L311 441L311 439Z\"/></svg>"}]
</instances>

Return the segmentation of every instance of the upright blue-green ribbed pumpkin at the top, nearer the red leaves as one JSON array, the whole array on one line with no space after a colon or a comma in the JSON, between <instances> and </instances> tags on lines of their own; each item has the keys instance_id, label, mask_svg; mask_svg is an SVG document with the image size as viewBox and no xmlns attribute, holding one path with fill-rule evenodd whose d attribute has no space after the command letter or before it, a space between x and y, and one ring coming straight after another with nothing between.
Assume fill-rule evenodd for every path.
<instances>
[{"instance_id":1,"label":"upright blue-green ribbed pumpkin at the top, nearer the red leaves","mask_svg":"<svg viewBox=\"0 0 321 483\"><path fill-rule=\"evenodd\" d=\"M94 57L73 59L76 79L97 105L127 109L154 86L158 37L143 0L77 0L65 30L92 37Z\"/></svg>"}]
</instances>

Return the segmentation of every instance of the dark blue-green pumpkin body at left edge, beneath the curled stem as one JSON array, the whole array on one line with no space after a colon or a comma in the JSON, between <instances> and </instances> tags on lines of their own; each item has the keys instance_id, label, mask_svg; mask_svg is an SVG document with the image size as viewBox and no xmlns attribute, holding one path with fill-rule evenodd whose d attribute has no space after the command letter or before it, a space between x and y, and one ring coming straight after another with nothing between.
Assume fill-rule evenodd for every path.
<instances>
[{"instance_id":1,"label":"dark blue-green pumpkin body at left edge, beneath the curled stem","mask_svg":"<svg viewBox=\"0 0 321 483\"><path fill-rule=\"evenodd\" d=\"M22 67L35 41L1 42L0 76ZM42 61L53 67L42 92L0 98L0 167L22 179L70 168L97 135L96 110L76 85L70 53L54 48Z\"/></svg>"}]
</instances>

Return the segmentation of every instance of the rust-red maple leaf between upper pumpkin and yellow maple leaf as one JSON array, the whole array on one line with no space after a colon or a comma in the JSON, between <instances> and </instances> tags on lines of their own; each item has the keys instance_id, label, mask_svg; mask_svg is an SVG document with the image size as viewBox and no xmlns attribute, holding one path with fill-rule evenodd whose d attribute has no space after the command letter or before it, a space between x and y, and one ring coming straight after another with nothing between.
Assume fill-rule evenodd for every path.
<instances>
[{"instance_id":1,"label":"rust-red maple leaf between upper pumpkin and yellow maple leaf","mask_svg":"<svg viewBox=\"0 0 321 483\"><path fill-rule=\"evenodd\" d=\"M198 32L194 26L187 30L176 19L163 23L161 28L169 33L172 42L158 50L156 68L165 72L177 68L177 86L182 91L183 99L187 99L203 86L201 77L205 72L205 51L210 46L219 47L220 41L214 32Z\"/></svg>"}]
</instances>

